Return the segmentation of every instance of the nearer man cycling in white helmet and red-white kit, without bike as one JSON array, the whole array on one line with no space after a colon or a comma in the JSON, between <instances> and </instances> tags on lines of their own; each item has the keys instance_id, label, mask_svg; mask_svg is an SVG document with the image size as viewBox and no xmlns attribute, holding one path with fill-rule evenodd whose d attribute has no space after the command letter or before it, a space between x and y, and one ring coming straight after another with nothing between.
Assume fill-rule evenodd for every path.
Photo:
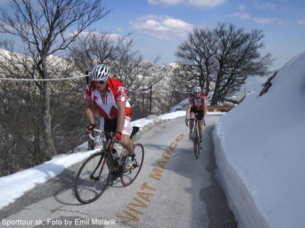
<instances>
[{"instance_id":1,"label":"nearer man cycling in white helmet and red-white kit, without bike","mask_svg":"<svg viewBox=\"0 0 305 228\"><path fill-rule=\"evenodd\" d=\"M91 133L94 124L94 114L99 114L99 129L115 132L114 142L120 143L129 155L126 169L134 162L134 143L130 140L131 107L127 92L121 81L111 78L106 64L95 66L90 74L91 82L86 87L84 113L89 120L86 127Z\"/></svg>"}]
</instances>

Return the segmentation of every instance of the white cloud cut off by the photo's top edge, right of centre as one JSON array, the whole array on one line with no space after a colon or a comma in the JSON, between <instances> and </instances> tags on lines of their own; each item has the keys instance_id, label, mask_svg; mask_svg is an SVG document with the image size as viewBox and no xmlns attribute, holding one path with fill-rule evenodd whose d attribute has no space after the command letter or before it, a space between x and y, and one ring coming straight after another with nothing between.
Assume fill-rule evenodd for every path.
<instances>
[{"instance_id":1,"label":"white cloud cut off by the photo's top edge, right of centre","mask_svg":"<svg viewBox=\"0 0 305 228\"><path fill-rule=\"evenodd\" d=\"M195 7L213 8L221 5L226 0L148 0L152 5L177 5L180 3L188 4Z\"/></svg>"}]
</instances>

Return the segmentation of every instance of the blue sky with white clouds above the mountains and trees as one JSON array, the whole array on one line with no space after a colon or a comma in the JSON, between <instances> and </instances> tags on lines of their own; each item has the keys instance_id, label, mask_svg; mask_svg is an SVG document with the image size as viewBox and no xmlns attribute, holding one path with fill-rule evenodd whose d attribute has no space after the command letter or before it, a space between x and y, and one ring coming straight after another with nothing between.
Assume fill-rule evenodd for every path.
<instances>
[{"instance_id":1,"label":"blue sky with white clouds above the mountains and trees","mask_svg":"<svg viewBox=\"0 0 305 228\"><path fill-rule=\"evenodd\" d=\"M0 0L0 5L7 2ZM273 54L272 69L305 50L305 0L105 0L105 4L113 10L91 29L118 35L133 32L134 48L146 60L159 55L159 63L175 62L174 52L193 26L213 28L218 21L246 31L263 29L262 53Z\"/></svg>"}]
</instances>

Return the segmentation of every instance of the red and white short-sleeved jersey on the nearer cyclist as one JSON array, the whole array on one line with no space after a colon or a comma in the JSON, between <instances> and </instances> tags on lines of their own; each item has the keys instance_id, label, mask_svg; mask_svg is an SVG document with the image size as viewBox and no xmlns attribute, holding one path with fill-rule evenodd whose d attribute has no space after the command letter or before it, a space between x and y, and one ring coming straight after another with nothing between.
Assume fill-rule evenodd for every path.
<instances>
[{"instance_id":1,"label":"red and white short-sleeved jersey on the nearer cyclist","mask_svg":"<svg viewBox=\"0 0 305 228\"><path fill-rule=\"evenodd\" d=\"M108 92L103 97L95 88L94 81L90 82L90 85L86 87L85 99L92 102L92 109L94 114L106 119L115 119L118 117L117 101L126 101L125 116L131 118L131 107L127 100L127 92L121 81L108 78Z\"/></svg>"}]
</instances>

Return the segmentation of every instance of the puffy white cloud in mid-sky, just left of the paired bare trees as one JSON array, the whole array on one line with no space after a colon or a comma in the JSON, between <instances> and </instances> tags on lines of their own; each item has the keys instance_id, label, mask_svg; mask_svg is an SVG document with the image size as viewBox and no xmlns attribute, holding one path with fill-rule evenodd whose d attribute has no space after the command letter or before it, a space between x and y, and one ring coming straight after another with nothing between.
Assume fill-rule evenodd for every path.
<instances>
[{"instance_id":1,"label":"puffy white cloud in mid-sky, just left of the paired bare trees","mask_svg":"<svg viewBox=\"0 0 305 228\"><path fill-rule=\"evenodd\" d=\"M193 29L189 23L163 15L141 16L137 20L129 22L134 29L163 40L184 38Z\"/></svg>"}]
</instances>

